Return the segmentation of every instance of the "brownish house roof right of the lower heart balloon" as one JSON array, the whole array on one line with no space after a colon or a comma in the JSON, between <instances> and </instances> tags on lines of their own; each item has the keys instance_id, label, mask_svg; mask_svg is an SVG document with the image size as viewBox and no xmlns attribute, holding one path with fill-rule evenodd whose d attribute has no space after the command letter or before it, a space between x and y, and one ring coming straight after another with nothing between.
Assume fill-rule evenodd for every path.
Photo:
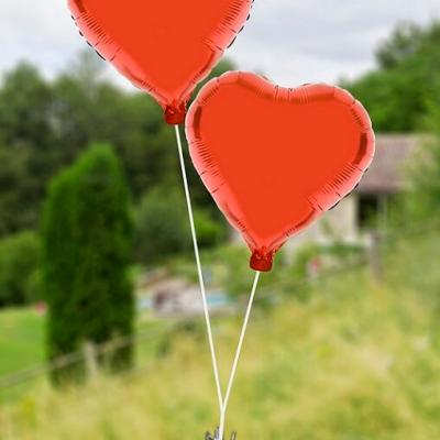
<instances>
[{"instance_id":1,"label":"brownish house roof right of the lower heart balloon","mask_svg":"<svg viewBox=\"0 0 440 440\"><path fill-rule=\"evenodd\" d=\"M395 194L405 186L403 167L419 144L415 135L380 134L376 153L361 180L358 193Z\"/></svg>"}]
</instances>

